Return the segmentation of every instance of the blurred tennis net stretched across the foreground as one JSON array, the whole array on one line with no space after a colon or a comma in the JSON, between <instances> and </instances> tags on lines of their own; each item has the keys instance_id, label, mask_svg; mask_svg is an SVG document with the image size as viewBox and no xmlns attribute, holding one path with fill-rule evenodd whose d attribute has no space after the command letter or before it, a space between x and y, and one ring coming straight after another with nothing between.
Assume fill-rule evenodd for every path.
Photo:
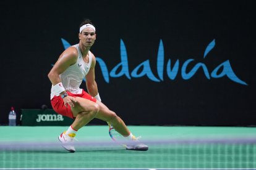
<instances>
[{"instance_id":1,"label":"blurred tennis net stretched across the foreground","mask_svg":"<svg viewBox=\"0 0 256 170\"><path fill-rule=\"evenodd\" d=\"M142 140L147 152L125 150L111 140L0 142L0 168L256 169L256 137Z\"/></svg>"}]
</instances>

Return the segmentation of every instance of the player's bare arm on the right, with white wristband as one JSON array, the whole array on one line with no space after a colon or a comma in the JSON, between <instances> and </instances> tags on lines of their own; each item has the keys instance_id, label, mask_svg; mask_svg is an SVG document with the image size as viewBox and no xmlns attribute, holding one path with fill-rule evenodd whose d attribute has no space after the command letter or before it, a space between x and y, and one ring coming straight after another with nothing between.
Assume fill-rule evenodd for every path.
<instances>
[{"instance_id":1,"label":"player's bare arm on the right, with white wristband","mask_svg":"<svg viewBox=\"0 0 256 170\"><path fill-rule=\"evenodd\" d=\"M100 95L98 92L98 86L95 81L95 65L96 65L96 59L95 59L95 56L92 54L92 65L90 67L88 74L85 76L86 87L87 87L88 93L101 102Z\"/></svg>"}]
</instances>

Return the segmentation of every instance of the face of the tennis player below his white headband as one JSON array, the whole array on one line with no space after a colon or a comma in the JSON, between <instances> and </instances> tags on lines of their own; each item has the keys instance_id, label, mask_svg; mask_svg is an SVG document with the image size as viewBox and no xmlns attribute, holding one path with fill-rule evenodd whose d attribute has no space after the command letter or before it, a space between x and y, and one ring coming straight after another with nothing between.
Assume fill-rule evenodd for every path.
<instances>
[{"instance_id":1,"label":"face of the tennis player below his white headband","mask_svg":"<svg viewBox=\"0 0 256 170\"><path fill-rule=\"evenodd\" d=\"M96 33L92 28L85 28L79 34L79 39L85 47L92 47L96 39Z\"/></svg>"}]
</instances>

